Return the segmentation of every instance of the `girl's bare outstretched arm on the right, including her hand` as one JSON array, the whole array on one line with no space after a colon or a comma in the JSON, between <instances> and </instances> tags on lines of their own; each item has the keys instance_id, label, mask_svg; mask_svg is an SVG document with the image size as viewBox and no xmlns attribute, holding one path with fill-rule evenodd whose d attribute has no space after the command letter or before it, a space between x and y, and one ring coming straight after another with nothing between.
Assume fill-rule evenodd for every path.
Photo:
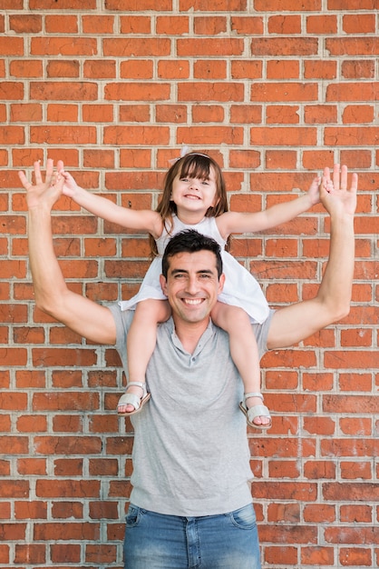
<instances>
[{"instance_id":1,"label":"girl's bare outstretched arm on the right, including her hand","mask_svg":"<svg viewBox=\"0 0 379 569\"><path fill-rule=\"evenodd\" d=\"M314 178L306 194L283 204L272 205L266 210L254 213L228 212L217 218L220 234L225 238L236 233L256 233L270 227L284 224L297 215L306 212L320 201L321 178Z\"/></svg>"}]
</instances>

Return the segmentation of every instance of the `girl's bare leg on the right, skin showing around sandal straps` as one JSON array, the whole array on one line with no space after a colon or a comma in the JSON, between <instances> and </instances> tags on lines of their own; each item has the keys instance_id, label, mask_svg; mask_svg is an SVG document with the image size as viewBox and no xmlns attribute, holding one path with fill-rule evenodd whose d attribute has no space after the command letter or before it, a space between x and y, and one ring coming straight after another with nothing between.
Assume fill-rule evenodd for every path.
<instances>
[{"instance_id":1,"label":"girl's bare leg on the right, skin showing around sandal straps","mask_svg":"<svg viewBox=\"0 0 379 569\"><path fill-rule=\"evenodd\" d=\"M260 393L258 345L248 314L238 306L218 302L211 317L215 324L229 334L230 354L242 377L245 393ZM259 397L248 397L246 404L249 409L262 404L262 400ZM269 423L267 416L254 419L257 426Z\"/></svg>"}]
</instances>

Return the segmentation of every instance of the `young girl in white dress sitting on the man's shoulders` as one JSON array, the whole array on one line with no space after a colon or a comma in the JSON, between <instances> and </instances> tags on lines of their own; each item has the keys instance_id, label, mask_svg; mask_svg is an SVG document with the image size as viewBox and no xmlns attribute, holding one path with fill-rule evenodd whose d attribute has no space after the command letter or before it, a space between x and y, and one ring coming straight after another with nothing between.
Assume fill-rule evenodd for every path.
<instances>
[{"instance_id":1,"label":"young girl in white dress sitting on the man's shoulders","mask_svg":"<svg viewBox=\"0 0 379 569\"><path fill-rule=\"evenodd\" d=\"M283 224L318 203L319 178L296 200L273 205L262 212L237 213L228 212L222 172L208 155L190 153L171 165L156 211L115 205L83 190L64 170L60 174L65 180L63 194L107 221L149 232L152 252L156 255L139 293L120 303L121 310L135 309L135 314L127 340L128 384L119 401L118 413L138 413L150 399L145 372L155 347L157 326L170 317L170 306L160 289L161 255L173 235L190 228L213 237L221 247L226 282L212 310L212 321L229 334L230 354L244 383L240 408L248 424L269 428L271 417L260 393L258 347L251 327L251 323L266 320L267 301L256 279L225 251L225 245L231 234L258 232Z\"/></svg>"}]
</instances>

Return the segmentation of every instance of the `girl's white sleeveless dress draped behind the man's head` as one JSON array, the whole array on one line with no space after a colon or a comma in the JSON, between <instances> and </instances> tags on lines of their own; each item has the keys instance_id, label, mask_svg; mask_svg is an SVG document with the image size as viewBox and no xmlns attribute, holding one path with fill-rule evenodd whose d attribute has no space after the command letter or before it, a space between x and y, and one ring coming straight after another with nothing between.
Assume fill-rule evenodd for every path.
<instances>
[{"instance_id":1,"label":"girl's white sleeveless dress draped behind the man's head","mask_svg":"<svg viewBox=\"0 0 379 569\"><path fill-rule=\"evenodd\" d=\"M141 288L130 300L121 301L121 310L134 310L136 304L142 300L167 300L160 288L161 257L170 238L185 229L196 229L202 235L212 237L221 247L223 272L226 276L224 289L219 294L219 301L225 304L238 306L248 313L252 323L261 324L267 319L269 308L265 295L254 278L245 267L225 251L226 242L219 234L216 217L204 217L199 224L183 224L179 217L172 216L173 227L170 235L163 229L162 235L157 239L159 256L151 262L148 272L142 281Z\"/></svg>"}]
</instances>

